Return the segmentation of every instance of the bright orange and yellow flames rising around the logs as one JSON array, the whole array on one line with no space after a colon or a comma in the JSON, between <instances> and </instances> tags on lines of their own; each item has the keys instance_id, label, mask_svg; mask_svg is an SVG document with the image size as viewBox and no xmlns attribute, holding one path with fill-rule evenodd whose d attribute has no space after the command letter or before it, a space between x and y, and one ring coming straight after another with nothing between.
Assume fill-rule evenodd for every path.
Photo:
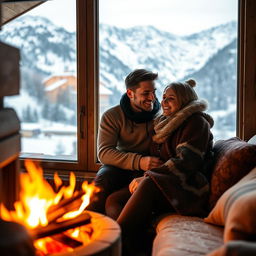
<instances>
[{"instance_id":1,"label":"bright orange and yellow flames rising around the logs","mask_svg":"<svg viewBox=\"0 0 256 256\"><path fill-rule=\"evenodd\" d=\"M71 199L77 193L75 191L76 178L73 172L70 173L69 186L62 185L62 180L58 174L54 174L54 183L58 192L55 192L51 185L43 178L43 170L34 162L26 160L25 167L27 173L20 174L20 200L14 203L14 210L8 211L3 204L0 206L1 218L6 221L18 222L28 229L45 227L49 220L47 212L50 207L58 205L64 199ZM97 193L99 188L94 184L84 182L82 184L81 205L77 210L65 213L55 222L71 219L81 214L90 203L93 193ZM79 192L81 193L81 192ZM49 213L48 213L49 215ZM69 232L70 236L77 237L79 228ZM72 235L73 234L73 235ZM76 235L75 235L76 234ZM35 245L42 248L42 244L49 243L49 238L37 240Z\"/></svg>"}]
</instances>

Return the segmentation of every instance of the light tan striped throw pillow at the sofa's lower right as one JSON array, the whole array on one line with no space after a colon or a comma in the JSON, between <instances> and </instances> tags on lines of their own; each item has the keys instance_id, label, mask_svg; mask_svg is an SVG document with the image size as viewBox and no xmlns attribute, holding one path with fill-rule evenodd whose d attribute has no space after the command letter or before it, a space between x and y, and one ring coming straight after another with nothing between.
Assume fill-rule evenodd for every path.
<instances>
[{"instance_id":1,"label":"light tan striped throw pillow at the sofa's lower right","mask_svg":"<svg viewBox=\"0 0 256 256\"><path fill-rule=\"evenodd\" d=\"M254 240L256 235L256 168L218 200L205 222L224 227L224 242Z\"/></svg>"}]
</instances>

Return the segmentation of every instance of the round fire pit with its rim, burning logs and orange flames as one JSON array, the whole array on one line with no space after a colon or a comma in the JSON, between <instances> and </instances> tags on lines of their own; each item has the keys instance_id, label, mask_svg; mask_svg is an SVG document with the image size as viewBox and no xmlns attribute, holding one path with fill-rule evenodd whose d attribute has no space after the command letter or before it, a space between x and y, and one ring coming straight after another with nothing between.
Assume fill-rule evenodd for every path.
<instances>
[{"instance_id":1,"label":"round fire pit with its rim, burning logs and orange flames","mask_svg":"<svg viewBox=\"0 0 256 256\"><path fill-rule=\"evenodd\" d=\"M73 173L70 174L68 186L62 184L56 174L53 188L44 179L37 163L26 160L25 167L27 172L20 174L20 198L13 210L0 205L0 230L7 228L7 223L13 231L19 230L18 236L14 232L7 243L7 249L15 252L6 255L23 255L19 254L20 247L31 249L29 244L34 244L36 253L24 254L26 256L121 254L119 225L107 216L86 211L90 198L99 191L93 183L84 181L82 188L75 190ZM16 223L23 224L26 229L22 231L22 227L14 226ZM6 232L11 233L10 229ZM3 240L0 238L0 255L7 250Z\"/></svg>"}]
</instances>

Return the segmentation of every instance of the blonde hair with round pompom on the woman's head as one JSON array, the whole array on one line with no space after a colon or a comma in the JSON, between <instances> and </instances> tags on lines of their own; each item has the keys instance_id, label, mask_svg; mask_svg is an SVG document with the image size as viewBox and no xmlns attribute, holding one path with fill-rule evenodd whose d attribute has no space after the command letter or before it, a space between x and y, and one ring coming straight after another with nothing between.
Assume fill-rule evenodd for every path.
<instances>
[{"instance_id":1,"label":"blonde hair with round pompom on the woman's head","mask_svg":"<svg viewBox=\"0 0 256 256\"><path fill-rule=\"evenodd\" d=\"M170 83L165 87L164 91L171 88L177 96L178 102L180 104L180 108L183 108L191 101L198 99L198 96L195 90L193 89L193 87L195 86L196 86L196 81L194 79L189 79L184 83L181 83L181 82Z\"/></svg>"}]
</instances>

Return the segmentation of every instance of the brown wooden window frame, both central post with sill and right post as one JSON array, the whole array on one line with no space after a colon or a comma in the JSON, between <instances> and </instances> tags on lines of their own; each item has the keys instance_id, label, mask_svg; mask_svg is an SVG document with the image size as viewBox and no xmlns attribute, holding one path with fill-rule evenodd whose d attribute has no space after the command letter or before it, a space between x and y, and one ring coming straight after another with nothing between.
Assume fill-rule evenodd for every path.
<instances>
[{"instance_id":1,"label":"brown wooden window frame, both central post with sill and right post","mask_svg":"<svg viewBox=\"0 0 256 256\"><path fill-rule=\"evenodd\" d=\"M96 155L99 104L98 0L77 0L78 160L41 160L44 169L77 171L93 177L100 164ZM256 134L256 1L238 1L237 136ZM22 161L23 162L23 161Z\"/></svg>"}]
</instances>

